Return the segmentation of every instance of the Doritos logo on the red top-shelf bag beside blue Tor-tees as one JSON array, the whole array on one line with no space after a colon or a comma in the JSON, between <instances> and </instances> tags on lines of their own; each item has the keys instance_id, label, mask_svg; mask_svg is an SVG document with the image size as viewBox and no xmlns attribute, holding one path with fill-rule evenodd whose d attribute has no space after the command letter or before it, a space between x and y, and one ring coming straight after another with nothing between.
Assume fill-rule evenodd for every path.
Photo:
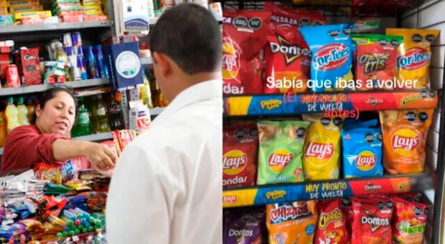
<instances>
[{"instance_id":1,"label":"Doritos logo on the red top-shelf bag beside blue Tor-tees","mask_svg":"<svg viewBox=\"0 0 445 244\"><path fill-rule=\"evenodd\" d=\"M282 53L284 55L284 60L286 60L286 65L291 64L293 61L300 58L301 55L311 55L309 49L302 49L299 46L293 45L280 35L277 35L277 39L278 43L270 42L270 50L272 53Z\"/></svg>"}]
</instances>

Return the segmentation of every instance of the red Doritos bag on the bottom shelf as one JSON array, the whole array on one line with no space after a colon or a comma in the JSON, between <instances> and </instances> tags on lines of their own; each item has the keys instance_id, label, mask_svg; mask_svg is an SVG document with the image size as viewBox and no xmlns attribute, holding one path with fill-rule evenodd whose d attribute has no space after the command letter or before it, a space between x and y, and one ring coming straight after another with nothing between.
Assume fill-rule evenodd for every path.
<instances>
[{"instance_id":1,"label":"red Doritos bag on the bottom shelf","mask_svg":"<svg viewBox=\"0 0 445 244\"><path fill-rule=\"evenodd\" d=\"M391 198L354 198L353 209L351 244L391 244Z\"/></svg>"}]
</instances>

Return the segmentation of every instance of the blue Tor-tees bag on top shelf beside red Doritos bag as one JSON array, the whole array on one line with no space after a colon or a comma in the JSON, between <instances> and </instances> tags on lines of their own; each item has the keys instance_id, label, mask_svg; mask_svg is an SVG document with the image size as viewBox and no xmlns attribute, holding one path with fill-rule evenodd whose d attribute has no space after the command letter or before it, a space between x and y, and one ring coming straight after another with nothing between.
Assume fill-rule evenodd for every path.
<instances>
[{"instance_id":1,"label":"blue Tor-tees bag on top shelf beside red Doritos bag","mask_svg":"<svg viewBox=\"0 0 445 244\"><path fill-rule=\"evenodd\" d=\"M312 82L308 84L312 92L355 90L350 26L304 26L300 33L312 51Z\"/></svg>"}]
</instances>

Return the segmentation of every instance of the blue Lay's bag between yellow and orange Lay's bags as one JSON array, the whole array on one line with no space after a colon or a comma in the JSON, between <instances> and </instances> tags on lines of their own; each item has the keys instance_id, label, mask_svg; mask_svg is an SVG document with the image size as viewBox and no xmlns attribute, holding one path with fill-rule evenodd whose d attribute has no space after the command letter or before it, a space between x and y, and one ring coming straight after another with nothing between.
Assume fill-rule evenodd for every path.
<instances>
[{"instance_id":1,"label":"blue Lay's bag between yellow and orange Lay's bags","mask_svg":"<svg viewBox=\"0 0 445 244\"><path fill-rule=\"evenodd\" d=\"M364 121L341 129L345 178L383 175L382 129L368 127L375 124L374 120Z\"/></svg>"}]
</instances>

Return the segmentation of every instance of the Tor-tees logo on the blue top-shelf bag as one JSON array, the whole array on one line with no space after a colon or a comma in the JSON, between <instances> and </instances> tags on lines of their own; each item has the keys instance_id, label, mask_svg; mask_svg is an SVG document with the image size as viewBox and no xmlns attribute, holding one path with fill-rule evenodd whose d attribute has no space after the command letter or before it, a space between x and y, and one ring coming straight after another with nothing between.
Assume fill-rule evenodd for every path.
<instances>
[{"instance_id":1,"label":"Tor-tees logo on the blue top-shelf bag","mask_svg":"<svg viewBox=\"0 0 445 244\"><path fill-rule=\"evenodd\" d=\"M348 46L333 43L323 46L314 54L315 68L322 71L338 69L348 62L350 50Z\"/></svg>"}]
</instances>

